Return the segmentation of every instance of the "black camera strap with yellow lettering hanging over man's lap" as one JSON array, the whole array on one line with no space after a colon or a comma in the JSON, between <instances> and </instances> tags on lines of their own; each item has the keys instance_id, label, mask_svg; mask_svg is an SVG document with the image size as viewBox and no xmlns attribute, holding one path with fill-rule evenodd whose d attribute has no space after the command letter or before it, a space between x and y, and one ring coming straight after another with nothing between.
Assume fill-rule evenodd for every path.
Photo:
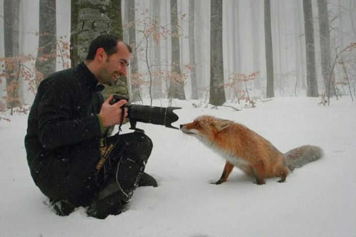
<instances>
[{"instance_id":1,"label":"black camera strap with yellow lettering hanging over man's lap","mask_svg":"<svg viewBox=\"0 0 356 237\"><path fill-rule=\"evenodd\" d=\"M104 134L100 137L99 139L99 152L100 152L100 160L98 162L98 164L95 166L97 172L95 174L95 181L96 184L98 184L98 173L101 170L102 167L104 167L104 182L107 180L107 176L108 174L106 173L106 169L105 169L105 161L106 159L109 157L111 151L114 149L115 145L118 142L118 135L120 134L121 130L121 126L123 125L124 122L124 114L125 114L125 107L122 106L121 107L121 121L120 121L120 125L118 126L118 131L115 134L115 136L117 136L117 140L115 143L110 143L109 146L107 146L106 144L106 138L107 138L107 133L108 133L108 129L106 129L106 131L104 132Z\"/></svg>"}]
</instances>

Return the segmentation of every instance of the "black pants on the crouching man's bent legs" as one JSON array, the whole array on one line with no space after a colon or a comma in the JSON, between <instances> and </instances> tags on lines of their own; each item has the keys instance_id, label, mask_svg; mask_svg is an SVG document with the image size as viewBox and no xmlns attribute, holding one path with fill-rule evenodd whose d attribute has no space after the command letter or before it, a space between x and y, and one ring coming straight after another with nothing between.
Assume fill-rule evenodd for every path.
<instances>
[{"instance_id":1,"label":"black pants on the crouching man's bent legs","mask_svg":"<svg viewBox=\"0 0 356 237\"><path fill-rule=\"evenodd\" d=\"M69 160L69 202L76 206L89 205L108 186L117 185L127 195L133 192L151 155L152 141L144 133L134 132L107 137L106 145L110 144L115 146L99 171L96 168L101 158L98 140L73 151Z\"/></svg>"}]
</instances>

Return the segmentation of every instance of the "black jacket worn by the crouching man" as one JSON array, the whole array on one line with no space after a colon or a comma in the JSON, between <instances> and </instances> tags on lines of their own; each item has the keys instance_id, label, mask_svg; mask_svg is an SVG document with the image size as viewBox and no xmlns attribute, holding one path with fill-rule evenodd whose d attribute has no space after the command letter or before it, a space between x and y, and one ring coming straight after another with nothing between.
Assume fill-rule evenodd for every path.
<instances>
[{"instance_id":1,"label":"black jacket worn by the crouching man","mask_svg":"<svg viewBox=\"0 0 356 237\"><path fill-rule=\"evenodd\" d=\"M97 84L81 63L50 75L38 87L25 148L36 185L51 198L68 197L68 161L75 147L101 136L97 114L103 99Z\"/></svg>"}]
</instances>

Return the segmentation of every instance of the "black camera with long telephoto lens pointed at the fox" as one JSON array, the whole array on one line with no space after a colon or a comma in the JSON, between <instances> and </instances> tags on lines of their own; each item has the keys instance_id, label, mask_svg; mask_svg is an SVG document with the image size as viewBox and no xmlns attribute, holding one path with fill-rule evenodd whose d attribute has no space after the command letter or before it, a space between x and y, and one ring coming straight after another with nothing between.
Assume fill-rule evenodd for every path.
<instances>
[{"instance_id":1,"label":"black camera with long telephoto lens pointed at the fox","mask_svg":"<svg viewBox=\"0 0 356 237\"><path fill-rule=\"evenodd\" d=\"M128 98L119 95L113 95L113 99L109 102L110 104L114 104L120 100L127 100ZM163 125L167 128L179 129L173 127L171 123L174 123L179 119L178 115L176 115L173 110L181 109L181 107L157 107L157 106L149 106L149 105L125 105L128 110L128 118L130 120L130 125L133 130L136 129L136 123L148 123L148 124L156 124Z\"/></svg>"}]
</instances>

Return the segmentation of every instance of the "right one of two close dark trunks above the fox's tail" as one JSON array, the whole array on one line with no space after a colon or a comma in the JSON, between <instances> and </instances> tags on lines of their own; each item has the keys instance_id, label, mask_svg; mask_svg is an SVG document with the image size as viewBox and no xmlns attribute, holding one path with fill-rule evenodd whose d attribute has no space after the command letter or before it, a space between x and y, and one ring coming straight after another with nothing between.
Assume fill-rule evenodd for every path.
<instances>
[{"instance_id":1,"label":"right one of two close dark trunks above the fox's tail","mask_svg":"<svg viewBox=\"0 0 356 237\"><path fill-rule=\"evenodd\" d=\"M328 3L326 0L318 0L318 15L319 15L319 37L320 37L320 54L321 54L321 74L324 79L325 88L329 88L329 76L331 73L331 50L330 50L330 28ZM334 78L334 77L332 77ZM335 95L335 81L331 80L330 91L331 96ZM325 90L329 97L329 90Z\"/></svg>"}]
</instances>

